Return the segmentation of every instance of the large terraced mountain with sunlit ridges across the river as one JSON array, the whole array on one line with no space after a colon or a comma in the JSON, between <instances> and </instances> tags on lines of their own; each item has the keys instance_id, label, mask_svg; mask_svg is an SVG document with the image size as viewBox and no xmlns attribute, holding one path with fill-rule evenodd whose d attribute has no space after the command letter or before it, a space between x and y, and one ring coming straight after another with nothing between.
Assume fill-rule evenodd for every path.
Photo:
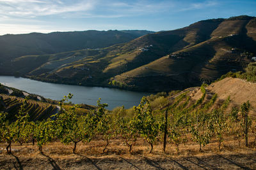
<instances>
[{"instance_id":1,"label":"large terraced mountain with sunlit ridges across the river","mask_svg":"<svg viewBox=\"0 0 256 170\"><path fill-rule=\"evenodd\" d=\"M56 83L159 92L243 71L255 53L256 18L239 16L202 20L105 48L17 57L4 70Z\"/></svg>"}]
</instances>

